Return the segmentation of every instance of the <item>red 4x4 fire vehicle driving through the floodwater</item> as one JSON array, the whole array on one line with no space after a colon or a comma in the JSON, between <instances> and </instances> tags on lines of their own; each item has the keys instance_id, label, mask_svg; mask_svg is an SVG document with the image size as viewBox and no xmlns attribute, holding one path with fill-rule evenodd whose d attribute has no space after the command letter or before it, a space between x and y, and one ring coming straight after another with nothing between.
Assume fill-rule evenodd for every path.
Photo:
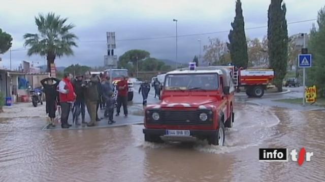
<instances>
[{"instance_id":1,"label":"red 4x4 fire vehicle driving through the floodwater","mask_svg":"<svg viewBox=\"0 0 325 182\"><path fill-rule=\"evenodd\" d=\"M222 146L224 128L234 122L234 92L228 67L168 72L160 103L145 108L145 141L207 139Z\"/></svg>"}]
</instances>

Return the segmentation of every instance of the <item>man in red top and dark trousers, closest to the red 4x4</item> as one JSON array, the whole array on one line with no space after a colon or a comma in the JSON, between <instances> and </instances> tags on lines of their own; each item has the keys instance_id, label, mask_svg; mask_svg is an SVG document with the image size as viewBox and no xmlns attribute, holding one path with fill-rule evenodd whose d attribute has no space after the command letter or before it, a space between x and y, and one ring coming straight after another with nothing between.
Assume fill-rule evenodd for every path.
<instances>
[{"instance_id":1,"label":"man in red top and dark trousers, closest to the red 4x4","mask_svg":"<svg viewBox=\"0 0 325 182\"><path fill-rule=\"evenodd\" d=\"M117 107L116 116L120 115L121 106L123 105L124 117L127 117L127 92L128 85L126 77L123 76L122 80L117 82Z\"/></svg>"}]
</instances>

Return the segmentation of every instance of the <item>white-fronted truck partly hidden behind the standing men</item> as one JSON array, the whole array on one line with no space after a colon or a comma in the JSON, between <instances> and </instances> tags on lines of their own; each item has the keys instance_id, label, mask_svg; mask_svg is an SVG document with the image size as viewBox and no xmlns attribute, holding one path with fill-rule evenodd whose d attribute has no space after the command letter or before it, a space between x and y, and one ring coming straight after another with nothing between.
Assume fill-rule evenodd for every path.
<instances>
[{"instance_id":1,"label":"white-fronted truck partly hidden behind the standing men","mask_svg":"<svg viewBox=\"0 0 325 182\"><path fill-rule=\"evenodd\" d=\"M117 97L117 82L119 82L123 76L128 76L128 70L127 69L107 69L104 71L106 75L110 76L110 81L112 81L112 84L115 87L114 96ZM131 80L127 80L128 85L128 93L127 93L127 100L132 101L133 100L133 90L134 90L134 83Z\"/></svg>"}]
</instances>

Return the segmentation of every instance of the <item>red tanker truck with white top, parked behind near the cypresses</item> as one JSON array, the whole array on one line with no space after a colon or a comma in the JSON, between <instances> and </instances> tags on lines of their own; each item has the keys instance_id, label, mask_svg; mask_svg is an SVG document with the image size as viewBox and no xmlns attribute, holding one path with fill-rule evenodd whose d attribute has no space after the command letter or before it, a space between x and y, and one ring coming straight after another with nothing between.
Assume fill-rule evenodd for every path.
<instances>
[{"instance_id":1,"label":"red tanker truck with white top, parked behind near the cypresses","mask_svg":"<svg viewBox=\"0 0 325 182\"><path fill-rule=\"evenodd\" d=\"M274 71L272 69L239 69L234 71L234 85L237 91L240 87L245 87L248 97L260 98L264 95L264 90L268 88L274 79Z\"/></svg>"}]
</instances>

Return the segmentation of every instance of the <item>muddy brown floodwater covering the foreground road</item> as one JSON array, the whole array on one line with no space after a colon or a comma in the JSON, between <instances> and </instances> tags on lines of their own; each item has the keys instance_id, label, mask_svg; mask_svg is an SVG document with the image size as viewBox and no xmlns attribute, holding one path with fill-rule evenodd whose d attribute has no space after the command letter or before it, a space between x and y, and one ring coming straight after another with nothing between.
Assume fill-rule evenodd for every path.
<instances>
[{"instance_id":1,"label":"muddy brown floodwater covering the foreground road","mask_svg":"<svg viewBox=\"0 0 325 182\"><path fill-rule=\"evenodd\" d=\"M238 104L225 146L150 144L142 125L41 131L0 120L0 181L325 181L325 113ZM259 162L258 148L305 147L310 162Z\"/></svg>"}]
</instances>

